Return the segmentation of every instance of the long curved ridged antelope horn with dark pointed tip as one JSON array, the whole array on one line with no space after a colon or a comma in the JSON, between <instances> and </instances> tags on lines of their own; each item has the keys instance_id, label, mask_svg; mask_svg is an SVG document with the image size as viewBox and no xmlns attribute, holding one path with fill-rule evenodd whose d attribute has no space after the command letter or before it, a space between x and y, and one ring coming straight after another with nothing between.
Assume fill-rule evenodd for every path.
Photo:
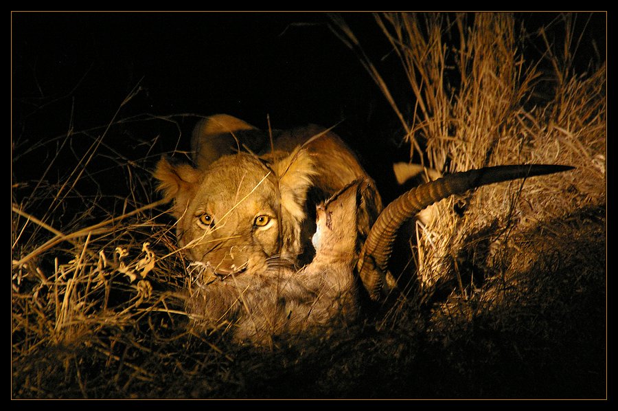
<instances>
[{"instance_id":1,"label":"long curved ridged antelope horn with dark pointed tip","mask_svg":"<svg viewBox=\"0 0 618 411\"><path fill-rule=\"evenodd\" d=\"M422 209L450 195L463 194L472 188L500 181L560 173L572 168L545 164L485 167L447 175L405 192L378 216L361 249L356 267L365 289L369 292L369 297L378 300L399 228Z\"/></svg>"}]
</instances>

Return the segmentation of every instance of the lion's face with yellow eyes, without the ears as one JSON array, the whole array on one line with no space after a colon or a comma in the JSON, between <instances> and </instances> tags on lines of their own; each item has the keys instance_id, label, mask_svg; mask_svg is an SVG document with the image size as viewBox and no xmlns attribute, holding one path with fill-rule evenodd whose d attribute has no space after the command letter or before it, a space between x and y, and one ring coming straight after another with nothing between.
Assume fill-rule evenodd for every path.
<instances>
[{"instance_id":1,"label":"lion's face with yellow eyes, without the ears","mask_svg":"<svg viewBox=\"0 0 618 411\"><path fill-rule=\"evenodd\" d=\"M192 260L221 274L263 268L266 258L279 252L277 191L277 177L252 157L220 159L187 204L179 245Z\"/></svg>"}]
</instances>

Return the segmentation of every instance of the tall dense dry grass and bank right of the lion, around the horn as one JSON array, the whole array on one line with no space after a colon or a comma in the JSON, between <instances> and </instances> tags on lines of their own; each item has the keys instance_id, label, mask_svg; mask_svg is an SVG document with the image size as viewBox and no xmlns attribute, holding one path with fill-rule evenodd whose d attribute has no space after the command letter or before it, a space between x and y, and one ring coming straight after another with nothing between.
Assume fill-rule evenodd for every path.
<instances>
[{"instance_id":1,"label":"tall dense dry grass and bank right of the lion, around the horn","mask_svg":"<svg viewBox=\"0 0 618 411\"><path fill-rule=\"evenodd\" d=\"M432 302L426 330L448 353L445 378L455 367L461 378L490 371L502 381L501 368L510 367L541 385L538 375L559 381L568 373L560 380L567 397L582 386L603 392L606 67L575 71L575 22L586 17L560 15L529 33L512 14L376 15L413 96L409 115L389 98L411 160L444 173L499 164L576 167L441 201L437 218L417 227L413 285L382 326ZM347 26L340 30L354 47ZM564 47L548 31L565 33ZM540 60L527 60L530 41L541 45ZM390 96L371 61L364 63ZM576 359L559 364L566 356ZM586 373L599 378L591 383ZM519 384L536 384L525 378L486 395L523 395Z\"/></svg>"}]
</instances>

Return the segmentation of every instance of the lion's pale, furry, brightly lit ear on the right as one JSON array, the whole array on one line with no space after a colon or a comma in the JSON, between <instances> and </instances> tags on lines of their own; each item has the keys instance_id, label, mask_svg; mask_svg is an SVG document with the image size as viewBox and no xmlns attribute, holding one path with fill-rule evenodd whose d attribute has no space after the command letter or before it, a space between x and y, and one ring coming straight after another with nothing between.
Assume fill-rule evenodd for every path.
<instances>
[{"instance_id":1,"label":"lion's pale, furry, brightly lit ear on the right","mask_svg":"<svg viewBox=\"0 0 618 411\"><path fill-rule=\"evenodd\" d=\"M295 150L273 165L279 177L279 192L281 206L297 221L302 221L305 215L307 192L312 186L312 176L316 174L313 158L302 148Z\"/></svg>"}]
</instances>

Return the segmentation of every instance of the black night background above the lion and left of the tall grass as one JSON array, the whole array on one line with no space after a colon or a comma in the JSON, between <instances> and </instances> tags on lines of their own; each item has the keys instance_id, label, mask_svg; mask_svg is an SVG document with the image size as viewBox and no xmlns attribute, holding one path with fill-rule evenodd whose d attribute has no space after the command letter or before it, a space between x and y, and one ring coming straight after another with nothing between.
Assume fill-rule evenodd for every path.
<instances>
[{"instance_id":1,"label":"black night background above the lion and left of the tall grass","mask_svg":"<svg viewBox=\"0 0 618 411\"><path fill-rule=\"evenodd\" d=\"M402 81L393 93L409 100L374 17L343 16L382 76ZM267 116L275 129L338 124L369 173L380 175L393 157L409 157L398 150L401 125L329 24L328 14L313 12L14 12L13 148L69 127L103 126L139 85L120 118L228 113L264 129ZM196 118L179 121L183 137L157 130L161 151L188 148ZM126 135L106 143L114 138Z\"/></svg>"}]
</instances>

